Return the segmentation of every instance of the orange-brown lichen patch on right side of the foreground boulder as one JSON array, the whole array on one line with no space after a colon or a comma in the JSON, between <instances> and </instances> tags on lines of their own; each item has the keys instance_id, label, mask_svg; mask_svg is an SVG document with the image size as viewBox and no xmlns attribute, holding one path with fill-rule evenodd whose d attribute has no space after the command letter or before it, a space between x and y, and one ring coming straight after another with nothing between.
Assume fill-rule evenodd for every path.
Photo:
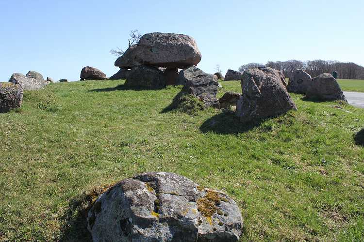
<instances>
[{"instance_id":1,"label":"orange-brown lichen patch on right side of the foreground boulder","mask_svg":"<svg viewBox=\"0 0 364 242\"><path fill-rule=\"evenodd\" d=\"M197 199L197 208L199 212L212 225L212 215L217 211L217 204L220 203L220 197L212 190L208 190L205 197Z\"/></svg>"}]
</instances>

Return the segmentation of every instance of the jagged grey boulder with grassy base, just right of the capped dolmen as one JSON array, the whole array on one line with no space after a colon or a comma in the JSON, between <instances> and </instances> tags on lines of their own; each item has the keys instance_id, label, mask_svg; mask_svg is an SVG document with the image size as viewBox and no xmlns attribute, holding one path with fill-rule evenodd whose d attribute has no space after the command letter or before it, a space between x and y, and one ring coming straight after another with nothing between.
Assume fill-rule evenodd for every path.
<instances>
[{"instance_id":1,"label":"jagged grey boulder with grassy base, just right of the capped dolmen","mask_svg":"<svg viewBox=\"0 0 364 242\"><path fill-rule=\"evenodd\" d=\"M191 66L180 71L178 85L184 85L181 93L191 94L199 98L205 107L219 107L216 98L218 81L215 75L207 74L196 66Z\"/></svg>"}]
</instances>

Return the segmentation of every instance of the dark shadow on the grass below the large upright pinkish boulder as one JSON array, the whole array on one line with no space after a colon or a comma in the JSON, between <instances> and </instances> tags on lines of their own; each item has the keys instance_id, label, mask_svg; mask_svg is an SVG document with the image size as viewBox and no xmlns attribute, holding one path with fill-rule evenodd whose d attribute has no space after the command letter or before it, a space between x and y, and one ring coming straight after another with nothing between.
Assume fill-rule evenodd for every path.
<instances>
[{"instance_id":1,"label":"dark shadow on the grass below the large upright pinkish boulder","mask_svg":"<svg viewBox=\"0 0 364 242\"><path fill-rule=\"evenodd\" d=\"M228 109L223 109L222 113L217 114L208 120L206 120L199 129L202 133L213 131L216 134L239 134L245 133L249 130L260 126L265 121L260 120L257 122L242 123L239 118L235 116L235 113Z\"/></svg>"}]
</instances>

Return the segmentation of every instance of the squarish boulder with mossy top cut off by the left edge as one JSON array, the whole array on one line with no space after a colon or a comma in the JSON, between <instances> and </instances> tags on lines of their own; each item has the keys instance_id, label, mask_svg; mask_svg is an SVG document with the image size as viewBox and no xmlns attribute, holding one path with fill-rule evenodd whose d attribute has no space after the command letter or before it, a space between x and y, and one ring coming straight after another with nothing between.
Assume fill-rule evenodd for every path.
<instances>
[{"instance_id":1,"label":"squarish boulder with mossy top cut off by the left edge","mask_svg":"<svg viewBox=\"0 0 364 242\"><path fill-rule=\"evenodd\" d=\"M0 82L0 113L21 107L23 88L12 82Z\"/></svg>"}]
</instances>

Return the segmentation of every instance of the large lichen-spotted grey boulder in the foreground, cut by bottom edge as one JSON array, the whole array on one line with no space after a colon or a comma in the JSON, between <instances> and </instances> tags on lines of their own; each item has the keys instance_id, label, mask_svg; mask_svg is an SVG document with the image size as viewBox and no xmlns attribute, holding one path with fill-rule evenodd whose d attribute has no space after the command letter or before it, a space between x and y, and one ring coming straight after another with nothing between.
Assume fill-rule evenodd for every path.
<instances>
[{"instance_id":1,"label":"large lichen-spotted grey boulder in the foreground, cut by bottom edge","mask_svg":"<svg viewBox=\"0 0 364 242\"><path fill-rule=\"evenodd\" d=\"M93 241L238 241L241 212L232 198L169 172L119 181L87 213Z\"/></svg>"}]
</instances>

